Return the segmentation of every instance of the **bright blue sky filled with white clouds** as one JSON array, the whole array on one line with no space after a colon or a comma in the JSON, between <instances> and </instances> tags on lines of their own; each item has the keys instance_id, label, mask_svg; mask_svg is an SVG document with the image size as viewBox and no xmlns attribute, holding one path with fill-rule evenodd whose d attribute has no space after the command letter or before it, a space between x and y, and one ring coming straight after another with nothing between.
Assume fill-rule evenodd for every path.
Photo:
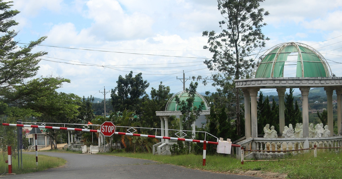
<instances>
[{"instance_id":1,"label":"bright blue sky filled with white clouds","mask_svg":"<svg viewBox=\"0 0 342 179\"><path fill-rule=\"evenodd\" d=\"M14 40L22 46L48 37L34 49L48 52L36 77L70 79L59 92L103 98L104 88L109 92L119 75L133 71L149 82L147 94L161 81L177 93L183 90L183 71L185 78L218 73L203 64L212 53L203 49L208 39L202 37L206 30L220 32L223 17L217 1L13 1L12 9L21 12L14 17L19 23L13 27L19 32ZM269 12L262 32L270 38L261 51L284 42L304 43L325 57L333 74L342 76L342 1L266 0L261 7ZM199 81L197 92L215 90L210 81L207 86Z\"/></svg>"}]
</instances>

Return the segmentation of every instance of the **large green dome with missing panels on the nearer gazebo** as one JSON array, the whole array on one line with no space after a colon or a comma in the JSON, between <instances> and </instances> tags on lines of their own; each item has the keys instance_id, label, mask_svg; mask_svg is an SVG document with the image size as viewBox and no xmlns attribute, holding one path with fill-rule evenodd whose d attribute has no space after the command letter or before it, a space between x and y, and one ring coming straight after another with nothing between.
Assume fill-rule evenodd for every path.
<instances>
[{"instance_id":1,"label":"large green dome with missing panels on the nearer gazebo","mask_svg":"<svg viewBox=\"0 0 342 179\"><path fill-rule=\"evenodd\" d=\"M324 57L303 43L278 44L261 59L255 78L284 77L284 71L295 72L295 77L330 77L331 70Z\"/></svg>"}]
</instances>

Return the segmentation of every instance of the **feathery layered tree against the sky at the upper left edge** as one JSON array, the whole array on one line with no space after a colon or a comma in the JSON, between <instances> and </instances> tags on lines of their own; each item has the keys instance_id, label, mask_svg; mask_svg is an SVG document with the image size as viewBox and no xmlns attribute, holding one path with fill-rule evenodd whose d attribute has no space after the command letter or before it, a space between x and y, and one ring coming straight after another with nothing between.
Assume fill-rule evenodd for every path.
<instances>
[{"instance_id":1,"label":"feathery layered tree against the sky at the upper left edge","mask_svg":"<svg viewBox=\"0 0 342 179\"><path fill-rule=\"evenodd\" d=\"M20 47L13 39L17 35L14 30L9 30L18 23L13 17L19 13L17 10L10 10L13 1L3 2L0 0L0 99L6 100L6 94L15 91L15 86L22 85L25 79L37 74L39 68L38 57L47 52L31 53L31 50L40 44L47 37L41 37L37 41Z\"/></svg>"}]
</instances>

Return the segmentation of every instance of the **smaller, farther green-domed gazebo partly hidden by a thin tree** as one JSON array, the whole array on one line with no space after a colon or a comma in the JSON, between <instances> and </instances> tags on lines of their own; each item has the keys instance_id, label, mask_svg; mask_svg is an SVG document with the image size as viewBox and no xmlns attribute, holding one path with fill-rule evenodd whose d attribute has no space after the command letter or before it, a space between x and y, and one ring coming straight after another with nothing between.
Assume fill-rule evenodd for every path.
<instances>
[{"instance_id":1,"label":"smaller, farther green-domed gazebo partly hidden by a thin tree","mask_svg":"<svg viewBox=\"0 0 342 179\"><path fill-rule=\"evenodd\" d=\"M186 101L189 98L188 91L180 91L174 94L168 101L165 111L156 111L156 115L160 117L161 123L161 136L169 137L169 117L176 116L180 119L180 130L183 130L181 116L182 113L180 111L180 106L176 102L176 96L180 99L180 101ZM193 106L199 107L201 103L204 103L202 107L202 111L200 113L199 118L193 124L193 134L195 132L195 126L202 127L206 125L207 120L206 116L210 115L210 108L207 100L198 92L195 92L195 100ZM176 133L176 132L175 132ZM176 137L176 136L173 136ZM169 146L173 145L176 142L169 141L168 139L161 139L161 142L153 145L153 153L154 154L171 154L169 151ZM157 148L157 150L155 150Z\"/></svg>"}]
</instances>

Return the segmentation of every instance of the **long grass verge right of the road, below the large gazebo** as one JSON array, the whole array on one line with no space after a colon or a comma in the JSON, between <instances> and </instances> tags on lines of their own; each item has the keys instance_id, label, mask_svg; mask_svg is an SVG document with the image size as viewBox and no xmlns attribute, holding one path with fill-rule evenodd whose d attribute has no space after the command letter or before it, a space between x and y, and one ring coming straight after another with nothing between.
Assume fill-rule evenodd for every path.
<instances>
[{"instance_id":1,"label":"long grass verge right of the road, below the large gazebo","mask_svg":"<svg viewBox=\"0 0 342 179\"><path fill-rule=\"evenodd\" d=\"M287 174L287 178L341 178L342 154L318 150L317 157L310 153L290 155L284 160L244 162L224 155L206 157L206 166L202 166L202 155L152 155L150 153L106 153L123 157L142 158L165 164L180 165L187 168L203 169L212 172L238 173L239 171L259 170Z\"/></svg>"}]
</instances>

